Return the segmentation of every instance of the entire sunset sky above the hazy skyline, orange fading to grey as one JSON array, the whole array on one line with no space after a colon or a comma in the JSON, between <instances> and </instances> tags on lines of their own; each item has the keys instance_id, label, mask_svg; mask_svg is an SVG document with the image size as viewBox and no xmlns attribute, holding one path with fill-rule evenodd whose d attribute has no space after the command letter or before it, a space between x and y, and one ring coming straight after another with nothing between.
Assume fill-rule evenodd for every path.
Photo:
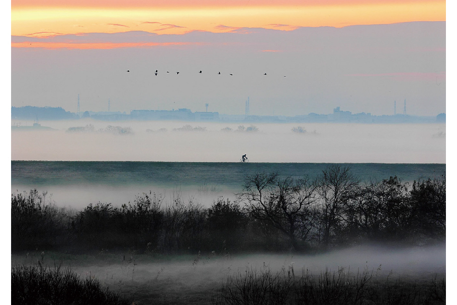
<instances>
[{"instance_id":1,"label":"entire sunset sky above the hazy skyline, orange fading to grey","mask_svg":"<svg viewBox=\"0 0 457 305\"><path fill-rule=\"evenodd\" d=\"M436 116L445 28L441 0L13 0L11 105Z\"/></svg>"}]
</instances>

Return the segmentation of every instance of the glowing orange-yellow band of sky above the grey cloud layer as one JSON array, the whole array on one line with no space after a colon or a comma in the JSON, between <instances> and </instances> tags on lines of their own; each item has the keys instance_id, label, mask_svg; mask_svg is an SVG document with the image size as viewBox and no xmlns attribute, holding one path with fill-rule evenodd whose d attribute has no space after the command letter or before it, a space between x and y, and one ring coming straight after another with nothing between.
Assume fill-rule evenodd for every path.
<instances>
[{"instance_id":1,"label":"glowing orange-yellow band of sky above the grey cloud layer","mask_svg":"<svg viewBox=\"0 0 457 305\"><path fill-rule=\"evenodd\" d=\"M294 30L445 21L445 0L13 0L13 36L146 31L184 34L232 28ZM225 27L221 27L221 25ZM19 47L20 45L15 45Z\"/></svg>"}]
</instances>

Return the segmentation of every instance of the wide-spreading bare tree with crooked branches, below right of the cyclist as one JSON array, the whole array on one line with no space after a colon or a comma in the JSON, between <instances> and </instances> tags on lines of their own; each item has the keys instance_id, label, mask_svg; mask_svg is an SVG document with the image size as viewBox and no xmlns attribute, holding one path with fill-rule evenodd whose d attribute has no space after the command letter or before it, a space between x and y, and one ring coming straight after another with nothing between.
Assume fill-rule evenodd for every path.
<instances>
[{"instance_id":1,"label":"wide-spreading bare tree with crooked branches, below right of the cyclist","mask_svg":"<svg viewBox=\"0 0 457 305\"><path fill-rule=\"evenodd\" d=\"M311 205L316 183L309 178L278 178L277 173L256 173L245 179L238 197L252 217L271 224L290 238L294 249L306 241L312 229Z\"/></svg>"}]
</instances>

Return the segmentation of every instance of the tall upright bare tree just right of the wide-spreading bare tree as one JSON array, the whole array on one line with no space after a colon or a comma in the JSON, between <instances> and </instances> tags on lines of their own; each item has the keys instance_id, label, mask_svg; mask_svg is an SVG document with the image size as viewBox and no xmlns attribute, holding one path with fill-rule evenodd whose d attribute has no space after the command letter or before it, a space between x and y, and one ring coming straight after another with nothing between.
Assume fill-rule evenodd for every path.
<instances>
[{"instance_id":1,"label":"tall upright bare tree just right of the wide-spreading bare tree","mask_svg":"<svg viewBox=\"0 0 457 305\"><path fill-rule=\"evenodd\" d=\"M331 235L344 221L344 211L358 189L359 180L349 167L329 165L318 178L322 236L320 242L327 248Z\"/></svg>"}]
</instances>

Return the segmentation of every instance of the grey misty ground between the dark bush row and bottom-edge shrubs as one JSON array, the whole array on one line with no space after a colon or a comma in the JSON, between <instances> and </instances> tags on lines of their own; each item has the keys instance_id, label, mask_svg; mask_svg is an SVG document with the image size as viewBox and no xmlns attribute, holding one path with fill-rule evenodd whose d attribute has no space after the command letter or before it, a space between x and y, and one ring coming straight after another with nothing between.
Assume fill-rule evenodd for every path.
<instances>
[{"instance_id":1,"label":"grey misty ground between the dark bush row and bottom-edge shrubs","mask_svg":"<svg viewBox=\"0 0 457 305\"><path fill-rule=\"evenodd\" d=\"M112 291L136 300L144 299L145 303L189 303L209 302L211 295L220 288L228 277L244 276L245 272L265 269L273 273L292 269L294 278L303 273L318 277L326 268L333 273L344 270L354 276L367 270L373 274L373 281L406 281L422 285L433 279L445 277L445 245L432 247L413 247L389 249L382 246L362 246L330 251L320 255L284 254L250 254L217 256L195 253L195 255L170 256L166 260L152 260L147 255L132 252L116 255L99 254L80 257L77 261L60 260L52 253L45 253L44 264L56 263L61 267L71 266L80 276L98 278ZM29 256L15 255L12 265L28 264L40 254ZM124 260L123 257L126 259ZM292 268L292 269L291 269ZM292 273L290 273L292 276ZM146 302L147 301L147 302Z\"/></svg>"}]
</instances>

